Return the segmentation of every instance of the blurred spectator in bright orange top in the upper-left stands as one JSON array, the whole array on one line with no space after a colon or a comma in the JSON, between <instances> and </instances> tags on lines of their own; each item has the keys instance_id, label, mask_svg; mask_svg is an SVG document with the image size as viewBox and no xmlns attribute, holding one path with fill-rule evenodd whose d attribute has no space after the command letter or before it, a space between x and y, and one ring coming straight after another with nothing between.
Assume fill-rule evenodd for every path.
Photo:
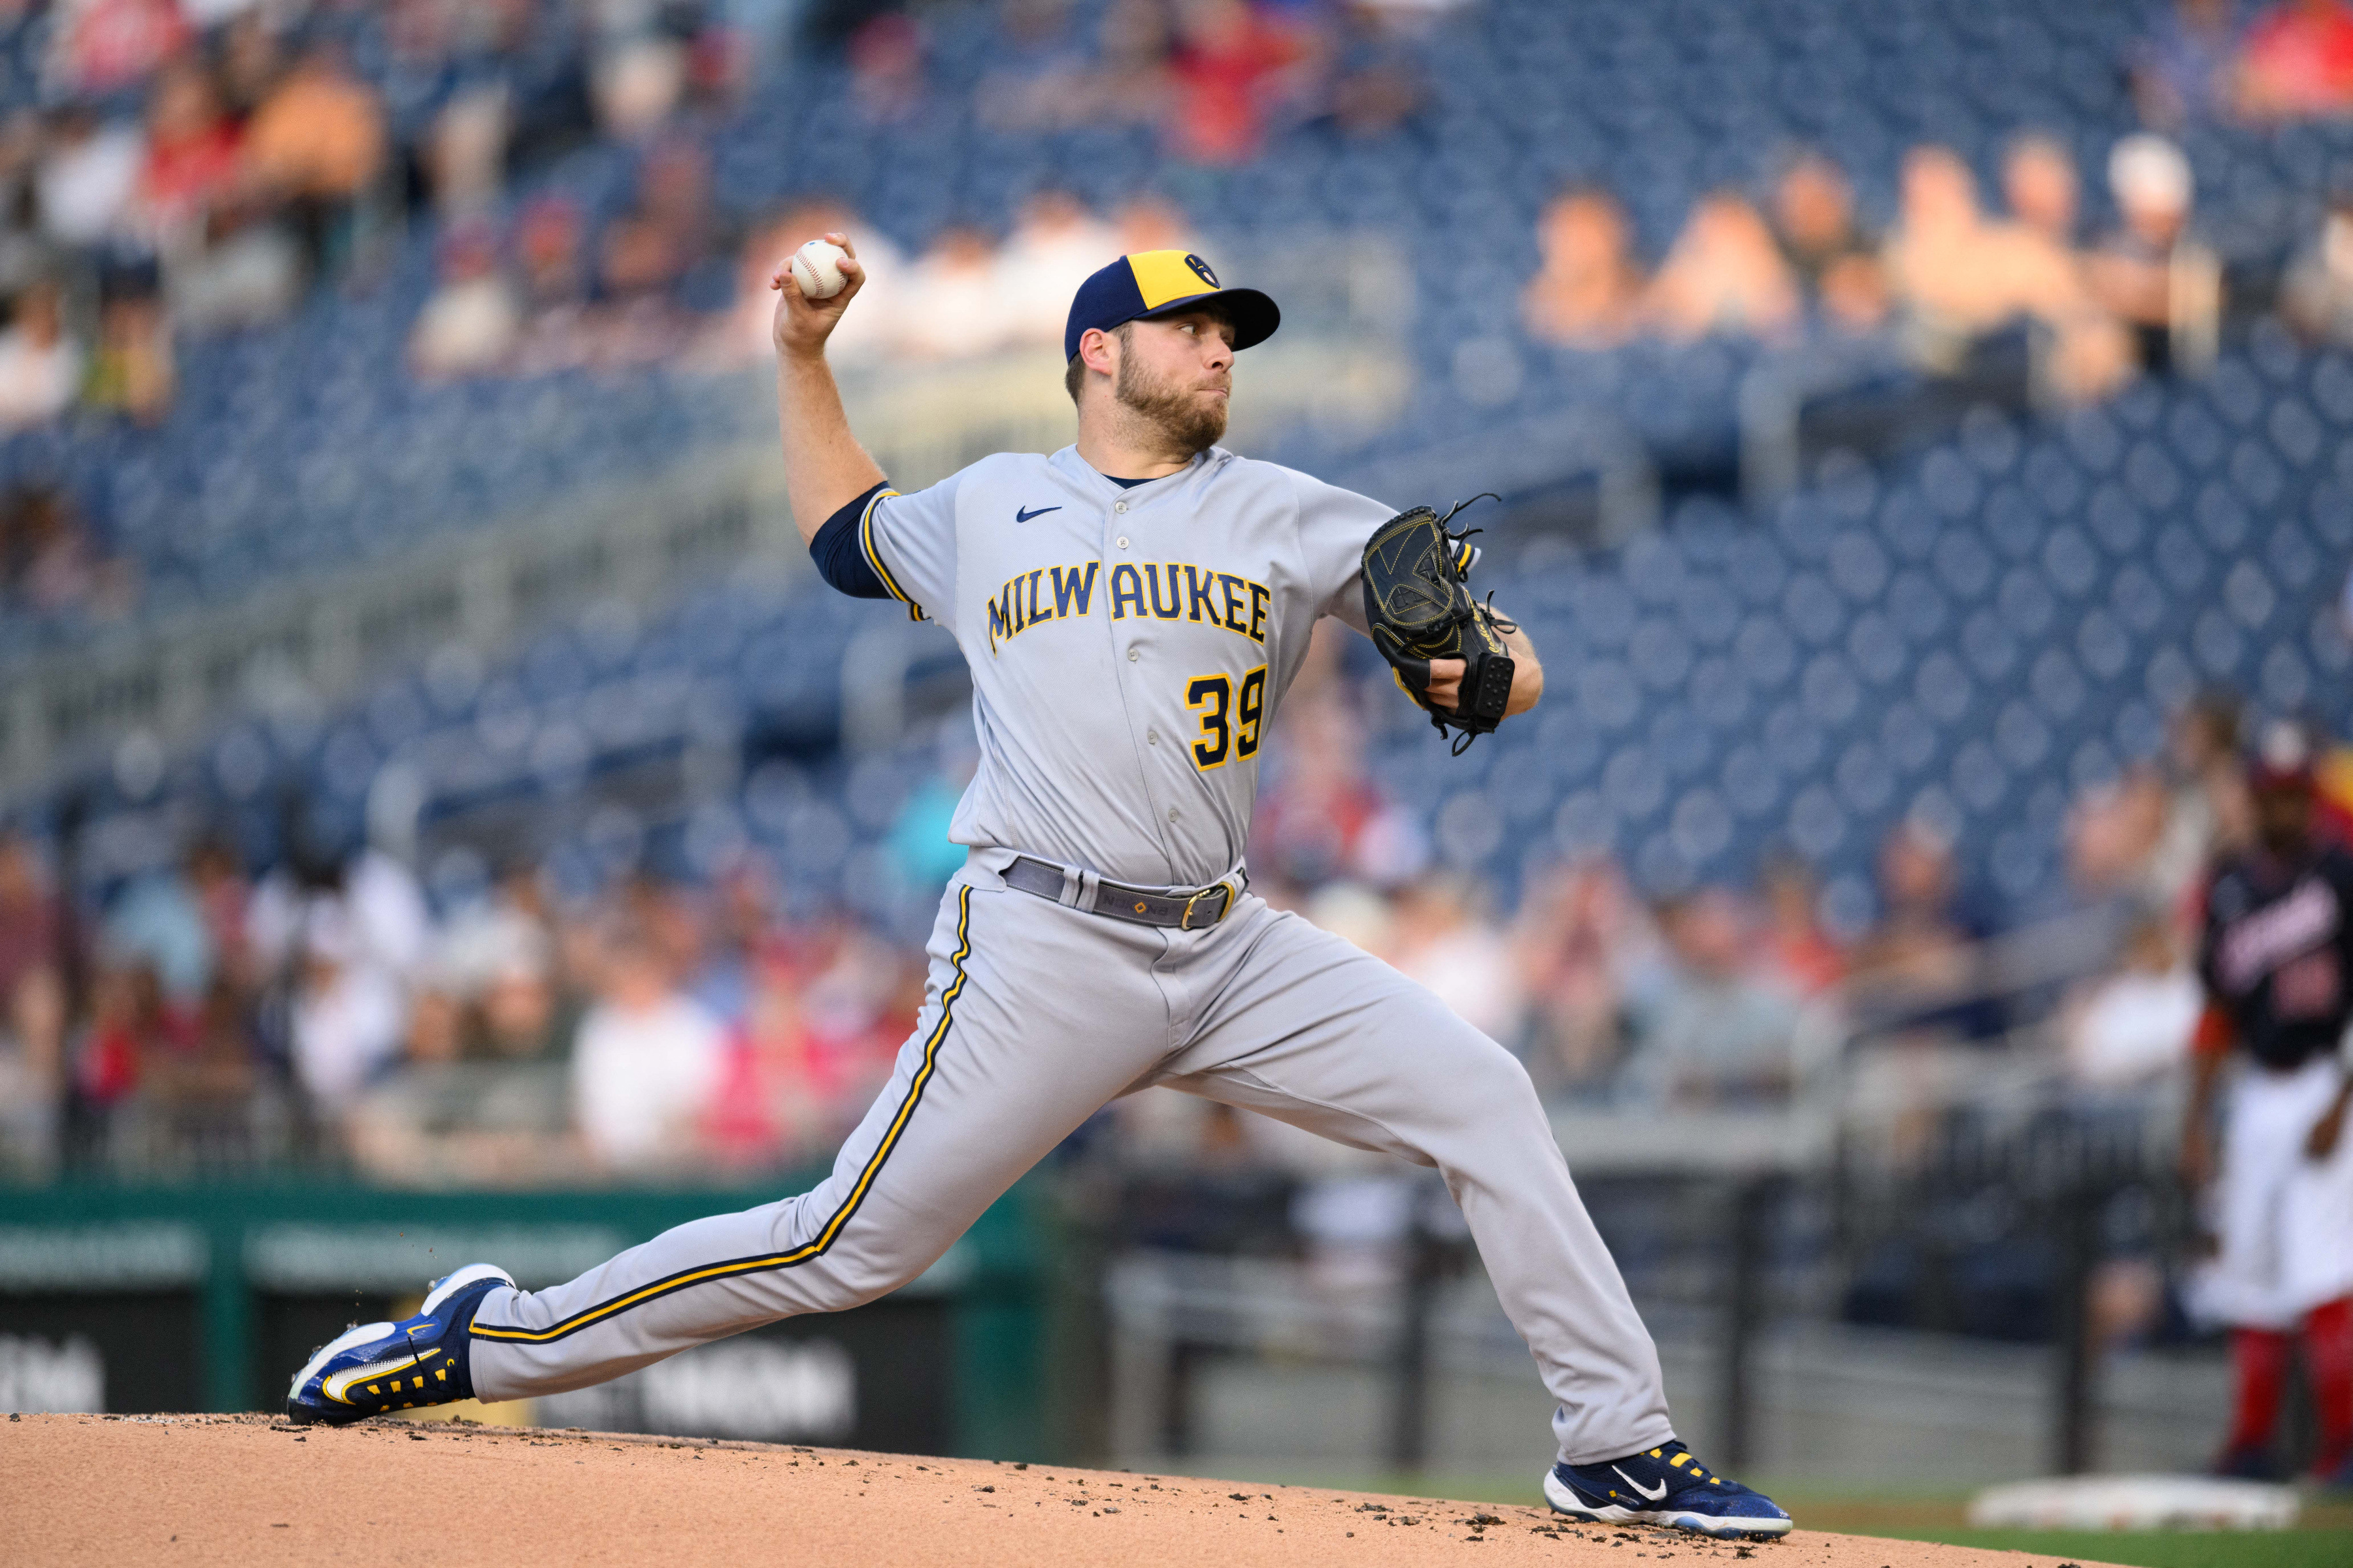
<instances>
[{"instance_id":1,"label":"blurred spectator in bright orange top in the upper-left stands","mask_svg":"<svg viewBox=\"0 0 2353 1568\"><path fill-rule=\"evenodd\" d=\"M358 202L384 167L384 110L341 47L311 45L245 125L254 183L285 205L313 277L351 249Z\"/></svg>"}]
</instances>

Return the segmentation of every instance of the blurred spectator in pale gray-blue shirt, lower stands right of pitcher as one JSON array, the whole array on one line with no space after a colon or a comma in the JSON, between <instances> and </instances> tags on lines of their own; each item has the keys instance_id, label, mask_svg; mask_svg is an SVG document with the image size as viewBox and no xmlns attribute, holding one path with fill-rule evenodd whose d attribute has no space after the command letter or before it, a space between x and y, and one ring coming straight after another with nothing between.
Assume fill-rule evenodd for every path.
<instances>
[{"instance_id":1,"label":"blurred spectator in pale gray-blue shirt, lower stands right of pitcher","mask_svg":"<svg viewBox=\"0 0 2353 1568\"><path fill-rule=\"evenodd\" d=\"M1659 912L1666 966L1642 997L1631 1086L1654 1105L1769 1110L1795 1088L1795 997L1748 964L1748 914L1722 889Z\"/></svg>"}]
</instances>

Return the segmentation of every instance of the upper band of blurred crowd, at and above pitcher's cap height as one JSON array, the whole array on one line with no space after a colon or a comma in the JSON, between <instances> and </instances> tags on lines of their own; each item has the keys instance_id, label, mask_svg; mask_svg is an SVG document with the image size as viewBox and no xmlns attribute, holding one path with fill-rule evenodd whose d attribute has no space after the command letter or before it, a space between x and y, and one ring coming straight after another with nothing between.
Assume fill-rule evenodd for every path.
<instances>
[{"instance_id":1,"label":"upper band of blurred crowd, at and above pitcher's cap height","mask_svg":"<svg viewBox=\"0 0 2353 1568\"><path fill-rule=\"evenodd\" d=\"M1217 179L1301 127L1414 127L1431 103L1426 42L1449 9L1002 0L1002 47L969 110L1007 134L1158 127L1167 158ZM920 7L718 0L0 7L0 42L31 49L40 78L38 103L0 110L0 435L162 421L174 346L280 320L313 289L379 289L414 235L431 235L433 284L407 364L381 374L424 381L755 364L779 256L828 228L856 235L873 277L838 353L906 364L1042 350L1101 256L1200 242L1148 183L1101 212L1026 190L922 235L821 195L720 200L729 115L784 49L838 52L852 113L889 136L941 103L939 26ZM2238 310L2353 343L2353 197L2238 299L2198 235L2191 165L2162 134L2353 113L2348 40L2344 0L2165 14L2120 61L2153 129L2106 160L2115 219L2097 235L2068 146L2045 134L2002 158L2000 214L1962 158L1913 148L1885 226L1859 209L1849 172L1791 148L1762 186L1701 197L1657 263L1638 254L1624 193L1567 190L1539 223L1525 327L1574 348L1892 334L1953 374L2024 329L2059 400L2195 364ZM595 205L541 179L576 148L621 150L628 193ZM812 172L805 190L821 186ZM0 501L0 599L125 614L136 583L104 534L61 489Z\"/></svg>"}]
</instances>

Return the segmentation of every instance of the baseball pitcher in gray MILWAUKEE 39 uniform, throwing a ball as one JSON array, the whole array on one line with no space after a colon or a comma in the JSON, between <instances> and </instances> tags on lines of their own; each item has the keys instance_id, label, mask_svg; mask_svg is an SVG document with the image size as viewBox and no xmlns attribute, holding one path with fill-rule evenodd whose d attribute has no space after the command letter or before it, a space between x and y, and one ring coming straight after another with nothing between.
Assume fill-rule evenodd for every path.
<instances>
[{"instance_id":1,"label":"baseball pitcher in gray MILWAUKEE 39 uniform, throwing a ball","mask_svg":"<svg viewBox=\"0 0 2353 1568\"><path fill-rule=\"evenodd\" d=\"M1165 1084L1445 1173L1558 1401L1555 1509L1786 1533L1772 1500L1675 1439L1657 1349L1520 1063L1249 891L1259 752L1322 616L1369 635L1461 738L1537 703L1537 651L1471 599L1461 538L1428 508L1391 515L1217 444L1235 355L1280 315L1186 252L1120 256L1078 289L1073 447L899 494L826 367L864 284L849 240L828 242L831 294L831 277L774 277L793 517L831 585L955 635L981 745L915 1032L816 1190L551 1291L459 1269L419 1316L320 1349L287 1413L555 1394L875 1300L1104 1103Z\"/></svg>"}]
</instances>

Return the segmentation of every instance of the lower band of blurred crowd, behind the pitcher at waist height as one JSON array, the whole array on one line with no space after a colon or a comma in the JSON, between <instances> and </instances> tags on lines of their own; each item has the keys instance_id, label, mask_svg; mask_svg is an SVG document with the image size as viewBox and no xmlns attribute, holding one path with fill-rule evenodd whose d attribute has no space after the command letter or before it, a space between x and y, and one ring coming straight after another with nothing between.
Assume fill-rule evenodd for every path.
<instances>
[{"instance_id":1,"label":"lower band of blurred crowd, behind the pitcher at waist height","mask_svg":"<svg viewBox=\"0 0 2353 1568\"><path fill-rule=\"evenodd\" d=\"M2064 1093L2162 1091L2188 1060L2198 879L2249 830L2235 698L2202 693L2162 757L2082 790L2057 903L1998 907L1951 825L1901 820L1875 907L1826 907L1769 856L1751 886L1638 891L1607 856L1532 867L1518 907L1452 875L1362 766L1360 691L1320 639L1268 748L1249 863L1278 907L1388 959L1508 1044L1558 1107L1769 1114L1805 1091L1800 1032L2017 1048ZM2353 842L2353 750L2322 766ZM918 790L894 853L936 886L955 780ZM925 959L880 926L786 910L772 863L701 884L562 889L529 858L471 882L301 827L273 865L200 839L68 900L71 844L0 837L0 1150L16 1168L348 1161L388 1182L755 1175L831 1154L915 1025ZM471 856L473 851L464 851ZM475 860L480 865L480 860ZM2106 971L2012 1013L1986 940L2089 922ZM1231 1117L1151 1093L1106 1114L1158 1157L1221 1157ZM1172 1133L1181 1126L1181 1133ZM1174 1145L1172 1145L1174 1138ZM1207 1143L1205 1143L1207 1140Z\"/></svg>"}]
</instances>

